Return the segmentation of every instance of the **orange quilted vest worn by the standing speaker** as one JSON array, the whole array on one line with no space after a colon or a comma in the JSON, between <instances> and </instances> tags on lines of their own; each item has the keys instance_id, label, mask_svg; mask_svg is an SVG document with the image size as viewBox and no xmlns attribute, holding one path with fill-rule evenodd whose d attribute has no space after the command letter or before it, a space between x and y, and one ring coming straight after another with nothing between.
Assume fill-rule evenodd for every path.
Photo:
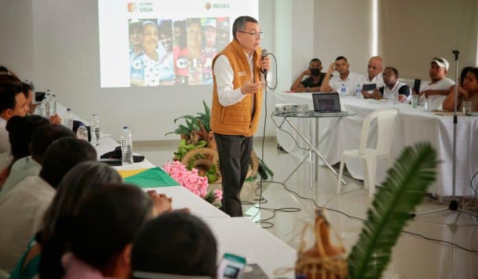
<instances>
[{"instance_id":1,"label":"orange quilted vest worn by the standing speaker","mask_svg":"<svg viewBox=\"0 0 478 279\"><path fill-rule=\"evenodd\" d=\"M223 49L213 60L212 68L214 73L214 63L218 56L224 55L229 60L234 71L232 80L233 89L238 89L242 83L251 80L251 71L247 56L242 50L242 46L236 39ZM260 59L261 49L258 48L253 54L253 74L254 80L260 80ZM212 93L211 107L211 130L214 133L223 135L244 135L250 137L258 130L258 123L262 102L262 90L254 94L246 94L240 102L224 107L219 102L216 76L213 75L214 91ZM252 102L254 102L255 112L252 115Z\"/></svg>"}]
</instances>

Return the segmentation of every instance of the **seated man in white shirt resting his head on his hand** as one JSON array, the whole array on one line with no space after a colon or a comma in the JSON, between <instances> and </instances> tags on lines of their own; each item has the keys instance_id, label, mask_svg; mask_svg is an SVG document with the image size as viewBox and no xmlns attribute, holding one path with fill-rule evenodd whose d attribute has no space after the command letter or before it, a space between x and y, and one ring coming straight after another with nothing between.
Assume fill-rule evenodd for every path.
<instances>
[{"instance_id":1,"label":"seated man in white shirt resting his head on his hand","mask_svg":"<svg viewBox=\"0 0 478 279\"><path fill-rule=\"evenodd\" d=\"M361 92L364 76L349 71L349 63L347 58L339 56L335 62L330 64L326 77L323 78L320 87L321 92L337 91L341 96L356 96L356 92ZM338 75L330 76L334 71L338 71Z\"/></svg>"}]
</instances>

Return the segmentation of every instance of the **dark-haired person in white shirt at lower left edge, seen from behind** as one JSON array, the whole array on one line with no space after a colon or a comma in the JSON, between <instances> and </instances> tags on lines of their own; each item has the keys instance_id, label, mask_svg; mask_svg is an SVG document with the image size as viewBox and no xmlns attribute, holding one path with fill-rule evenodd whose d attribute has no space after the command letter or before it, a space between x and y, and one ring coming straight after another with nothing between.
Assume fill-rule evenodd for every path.
<instances>
[{"instance_id":1,"label":"dark-haired person in white shirt at lower left edge, seen from behind","mask_svg":"<svg viewBox=\"0 0 478 279\"><path fill-rule=\"evenodd\" d=\"M89 142L74 137L58 139L47 148L40 175L25 178L0 197L0 269L12 270L28 241L41 229L43 214L62 177L82 161L96 161L96 156Z\"/></svg>"}]
</instances>

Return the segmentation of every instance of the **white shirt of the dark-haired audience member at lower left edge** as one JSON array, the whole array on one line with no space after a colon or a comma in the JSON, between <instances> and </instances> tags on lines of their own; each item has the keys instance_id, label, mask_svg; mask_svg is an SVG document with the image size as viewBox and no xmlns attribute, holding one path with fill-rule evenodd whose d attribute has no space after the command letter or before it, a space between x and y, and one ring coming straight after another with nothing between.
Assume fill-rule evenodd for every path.
<instances>
[{"instance_id":1,"label":"white shirt of the dark-haired audience member at lower left edge","mask_svg":"<svg viewBox=\"0 0 478 279\"><path fill-rule=\"evenodd\" d=\"M55 189L41 177L27 177L0 197L0 269L15 267L36 234L41 219L55 195Z\"/></svg>"}]
</instances>

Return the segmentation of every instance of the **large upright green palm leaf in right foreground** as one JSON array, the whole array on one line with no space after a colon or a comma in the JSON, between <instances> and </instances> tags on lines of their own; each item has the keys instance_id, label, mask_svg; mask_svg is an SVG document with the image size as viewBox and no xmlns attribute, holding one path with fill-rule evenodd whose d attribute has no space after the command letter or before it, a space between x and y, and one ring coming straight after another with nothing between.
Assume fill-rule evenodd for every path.
<instances>
[{"instance_id":1,"label":"large upright green palm leaf in right foreground","mask_svg":"<svg viewBox=\"0 0 478 279\"><path fill-rule=\"evenodd\" d=\"M435 180L437 159L431 144L407 147L387 172L367 210L367 221L348 256L350 278L380 278L400 231Z\"/></svg>"}]
</instances>

